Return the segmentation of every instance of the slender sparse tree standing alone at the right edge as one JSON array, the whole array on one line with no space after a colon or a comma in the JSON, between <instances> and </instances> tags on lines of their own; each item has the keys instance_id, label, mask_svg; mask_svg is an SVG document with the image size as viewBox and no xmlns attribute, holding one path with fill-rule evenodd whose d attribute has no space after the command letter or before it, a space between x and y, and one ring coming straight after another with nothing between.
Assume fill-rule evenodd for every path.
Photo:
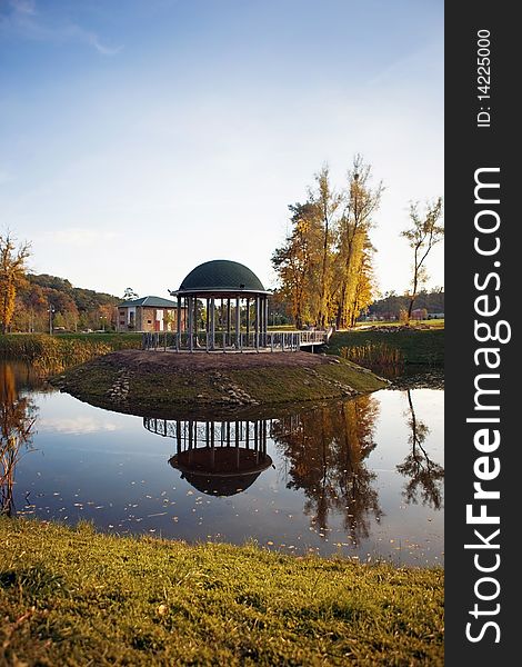
<instances>
[{"instance_id":1,"label":"slender sparse tree standing alone at the right edge","mask_svg":"<svg viewBox=\"0 0 522 667\"><path fill-rule=\"evenodd\" d=\"M419 202L410 205L410 220L412 225L409 229L401 232L401 236L408 239L410 248L413 249L413 278L408 319L411 318L419 286L428 279L424 261L433 246L444 238L444 227L440 225L441 218L442 197L439 197L433 202L428 202L422 213L419 212Z\"/></svg>"}]
</instances>

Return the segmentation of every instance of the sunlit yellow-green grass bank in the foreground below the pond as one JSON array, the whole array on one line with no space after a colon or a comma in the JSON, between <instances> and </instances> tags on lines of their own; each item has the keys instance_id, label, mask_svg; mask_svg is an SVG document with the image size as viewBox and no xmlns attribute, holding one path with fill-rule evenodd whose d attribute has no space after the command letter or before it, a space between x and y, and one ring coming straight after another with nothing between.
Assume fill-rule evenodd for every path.
<instances>
[{"instance_id":1,"label":"sunlit yellow-green grass bank in the foreground below the pond","mask_svg":"<svg viewBox=\"0 0 522 667\"><path fill-rule=\"evenodd\" d=\"M0 664L443 664L443 571L0 518Z\"/></svg>"}]
</instances>

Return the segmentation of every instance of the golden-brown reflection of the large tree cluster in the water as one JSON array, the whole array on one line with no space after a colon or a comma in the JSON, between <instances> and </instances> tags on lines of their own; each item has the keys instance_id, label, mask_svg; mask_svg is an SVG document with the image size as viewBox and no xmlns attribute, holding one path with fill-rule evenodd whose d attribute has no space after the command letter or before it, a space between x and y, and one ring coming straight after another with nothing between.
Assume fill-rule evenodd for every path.
<instances>
[{"instance_id":1,"label":"golden-brown reflection of the large tree cluster in the water","mask_svg":"<svg viewBox=\"0 0 522 667\"><path fill-rule=\"evenodd\" d=\"M272 424L271 435L290 461L288 487L304 490L304 511L322 530L329 511L337 510L352 538L361 539L369 535L370 512L382 515L371 486L375 475L364 466L375 447L377 412L375 399L365 396Z\"/></svg>"}]
</instances>

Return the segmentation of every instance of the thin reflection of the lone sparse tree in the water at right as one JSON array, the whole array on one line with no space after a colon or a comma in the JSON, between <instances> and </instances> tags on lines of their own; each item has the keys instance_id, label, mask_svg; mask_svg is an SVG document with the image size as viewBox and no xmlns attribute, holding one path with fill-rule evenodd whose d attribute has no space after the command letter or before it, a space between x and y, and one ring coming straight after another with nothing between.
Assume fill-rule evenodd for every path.
<instances>
[{"instance_id":1,"label":"thin reflection of the lone sparse tree in the water at right","mask_svg":"<svg viewBox=\"0 0 522 667\"><path fill-rule=\"evenodd\" d=\"M411 451L404 459L404 462L396 466L401 475L410 478L404 487L403 495L406 502L418 502L420 495L422 505L440 509L442 505L444 468L432 461L426 450L422 447L430 429L423 421L416 418L410 389L408 389L406 395L410 406L410 410L406 412L406 424L410 428L408 441L411 445Z\"/></svg>"}]
</instances>

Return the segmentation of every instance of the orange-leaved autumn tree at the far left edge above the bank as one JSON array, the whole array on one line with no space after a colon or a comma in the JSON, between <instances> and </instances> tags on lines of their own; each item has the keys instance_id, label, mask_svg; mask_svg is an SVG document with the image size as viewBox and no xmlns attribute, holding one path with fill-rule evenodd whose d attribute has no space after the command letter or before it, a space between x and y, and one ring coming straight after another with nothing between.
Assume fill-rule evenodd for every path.
<instances>
[{"instance_id":1,"label":"orange-leaved autumn tree at the far left edge above the bank","mask_svg":"<svg viewBox=\"0 0 522 667\"><path fill-rule=\"evenodd\" d=\"M26 283L27 259L30 256L27 241L18 248L16 239L8 231L0 235L0 320L2 334L9 330L14 313L17 290Z\"/></svg>"}]
</instances>

